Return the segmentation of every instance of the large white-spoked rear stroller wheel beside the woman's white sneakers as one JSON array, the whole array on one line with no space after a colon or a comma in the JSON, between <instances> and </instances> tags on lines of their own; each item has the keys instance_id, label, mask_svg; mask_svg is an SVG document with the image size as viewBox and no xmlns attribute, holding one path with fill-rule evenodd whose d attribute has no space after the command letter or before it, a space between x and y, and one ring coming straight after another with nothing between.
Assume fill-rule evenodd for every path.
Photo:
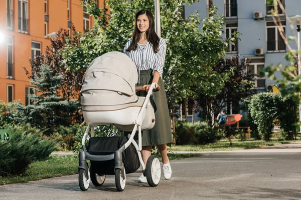
<instances>
[{"instance_id":1,"label":"large white-spoked rear stroller wheel beside the woman's white sneakers","mask_svg":"<svg viewBox=\"0 0 301 200\"><path fill-rule=\"evenodd\" d=\"M160 160L156 155L151 155L148 157L145 175L149 186L155 187L159 184L161 178L161 165Z\"/></svg>"}]
</instances>

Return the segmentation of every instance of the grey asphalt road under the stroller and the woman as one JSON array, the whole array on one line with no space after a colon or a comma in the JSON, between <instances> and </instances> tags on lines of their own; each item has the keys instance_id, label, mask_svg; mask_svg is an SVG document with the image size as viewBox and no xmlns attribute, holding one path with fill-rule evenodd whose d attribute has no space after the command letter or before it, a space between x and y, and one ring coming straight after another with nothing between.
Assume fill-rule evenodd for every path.
<instances>
[{"instance_id":1,"label":"grey asphalt road under the stroller and the woman","mask_svg":"<svg viewBox=\"0 0 301 200\"><path fill-rule=\"evenodd\" d=\"M171 160L173 176L157 187L127 174L124 191L114 176L87 191L78 175L0 186L0 199L301 199L301 143L261 149L204 152L204 156ZM162 175L163 177L163 175Z\"/></svg>"}]
</instances>

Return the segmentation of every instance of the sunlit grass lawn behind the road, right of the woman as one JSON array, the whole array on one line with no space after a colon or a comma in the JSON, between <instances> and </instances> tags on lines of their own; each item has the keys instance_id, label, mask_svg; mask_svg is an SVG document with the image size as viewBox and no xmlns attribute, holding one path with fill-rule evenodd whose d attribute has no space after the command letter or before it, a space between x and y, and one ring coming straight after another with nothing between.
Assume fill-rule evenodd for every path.
<instances>
[{"instance_id":1,"label":"sunlit grass lawn behind the road, right of the woman","mask_svg":"<svg viewBox=\"0 0 301 200\"><path fill-rule=\"evenodd\" d=\"M263 146L273 146L277 144L285 144L285 143L292 143L294 141L278 141L278 140L271 140L271 141L264 141L264 140L254 140L254 139L247 139L247 140L240 140L240 139L231 139L233 144L230 146L229 139L221 139L215 143L210 144L198 144L198 145L175 145L172 147L168 147L169 151L217 151L217 150L239 150L239 149L250 149L250 148L258 148Z\"/></svg>"}]
</instances>

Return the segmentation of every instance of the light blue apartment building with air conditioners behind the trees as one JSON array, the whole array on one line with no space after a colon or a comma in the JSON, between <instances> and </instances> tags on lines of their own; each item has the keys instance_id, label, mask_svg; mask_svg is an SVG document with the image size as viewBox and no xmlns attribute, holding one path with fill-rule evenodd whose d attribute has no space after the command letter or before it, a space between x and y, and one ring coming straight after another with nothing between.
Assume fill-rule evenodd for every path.
<instances>
[{"instance_id":1,"label":"light blue apartment building with air conditioners behind the trees","mask_svg":"<svg viewBox=\"0 0 301 200\"><path fill-rule=\"evenodd\" d=\"M301 0L281 0L281 2L288 16L286 17L279 7L280 22L288 38L289 35L293 35L292 31L296 34L296 29L290 28L289 18L301 14ZM250 60L248 71L253 73L271 64L277 65L279 62L282 65L287 64L284 58L287 47L269 13L269 10L274 9L273 5L266 5L266 0L199 0L193 5L185 6L185 17L198 10L200 18L203 19L208 16L212 4L217 5L218 13L226 17L223 38L231 37L234 31L241 33L241 40L236 45L229 45L226 58L236 53L240 58L248 58ZM201 26L202 24L200 31ZM289 41L289 44L293 49L297 49L294 41ZM278 72L275 76L281 77ZM270 90L273 84L274 81L264 75L255 79L258 92Z\"/></svg>"}]
</instances>

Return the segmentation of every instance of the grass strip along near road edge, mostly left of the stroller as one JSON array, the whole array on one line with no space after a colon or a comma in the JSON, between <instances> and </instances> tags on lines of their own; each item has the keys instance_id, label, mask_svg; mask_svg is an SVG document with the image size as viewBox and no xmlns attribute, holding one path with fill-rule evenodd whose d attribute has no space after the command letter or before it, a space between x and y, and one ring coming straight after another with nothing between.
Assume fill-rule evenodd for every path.
<instances>
[{"instance_id":1,"label":"grass strip along near road edge, mostly left of the stroller","mask_svg":"<svg viewBox=\"0 0 301 200\"><path fill-rule=\"evenodd\" d=\"M169 153L169 159L182 159L187 157L201 156L197 153L174 154ZM158 155L161 160L161 155ZM43 178L52 178L62 175L71 175L78 173L78 156L49 156L44 161L35 161L30 164L30 168L22 176L2 177L0 176L0 185L12 184L17 182L28 182L31 180L40 180Z\"/></svg>"}]
</instances>

